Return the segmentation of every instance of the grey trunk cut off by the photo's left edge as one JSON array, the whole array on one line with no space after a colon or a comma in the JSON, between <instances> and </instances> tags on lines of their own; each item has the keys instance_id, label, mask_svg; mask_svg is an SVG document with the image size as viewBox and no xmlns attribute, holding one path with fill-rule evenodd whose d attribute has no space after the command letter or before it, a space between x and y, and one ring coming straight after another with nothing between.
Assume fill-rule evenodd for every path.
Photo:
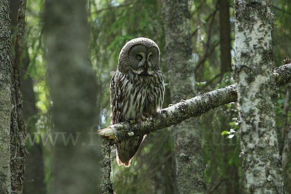
<instances>
[{"instance_id":1,"label":"grey trunk cut off by the photo's left edge","mask_svg":"<svg viewBox=\"0 0 291 194\"><path fill-rule=\"evenodd\" d=\"M0 1L0 193L11 194L11 31L9 0Z\"/></svg>"}]
</instances>

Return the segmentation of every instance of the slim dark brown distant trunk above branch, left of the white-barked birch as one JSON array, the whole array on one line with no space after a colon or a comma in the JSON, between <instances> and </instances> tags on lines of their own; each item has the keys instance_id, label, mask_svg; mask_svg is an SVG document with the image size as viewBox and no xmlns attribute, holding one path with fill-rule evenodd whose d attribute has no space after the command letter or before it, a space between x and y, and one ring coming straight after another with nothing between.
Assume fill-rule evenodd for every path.
<instances>
[{"instance_id":1,"label":"slim dark brown distant trunk above branch, left of the white-barked birch","mask_svg":"<svg viewBox=\"0 0 291 194\"><path fill-rule=\"evenodd\" d=\"M221 73L231 70L228 0L218 0Z\"/></svg>"}]
</instances>

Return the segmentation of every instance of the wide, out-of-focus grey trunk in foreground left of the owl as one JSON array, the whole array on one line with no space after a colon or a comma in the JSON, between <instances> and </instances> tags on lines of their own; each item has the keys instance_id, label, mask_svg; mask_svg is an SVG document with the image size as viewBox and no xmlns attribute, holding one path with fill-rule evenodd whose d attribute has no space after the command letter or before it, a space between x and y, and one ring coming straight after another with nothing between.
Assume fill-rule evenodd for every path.
<instances>
[{"instance_id":1,"label":"wide, out-of-focus grey trunk in foreground left of the owl","mask_svg":"<svg viewBox=\"0 0 291 194\"><path fill-rule=\"evenodd\" d=\"M53 194L93 194L98 189L97 134L93 132L98 126L97 82L87 62L86 2L46 1L47 61L56 138ZM75 143L70 139L66 144L61 134L65 140L71 135Z\"/></svg>"}]
</instances>

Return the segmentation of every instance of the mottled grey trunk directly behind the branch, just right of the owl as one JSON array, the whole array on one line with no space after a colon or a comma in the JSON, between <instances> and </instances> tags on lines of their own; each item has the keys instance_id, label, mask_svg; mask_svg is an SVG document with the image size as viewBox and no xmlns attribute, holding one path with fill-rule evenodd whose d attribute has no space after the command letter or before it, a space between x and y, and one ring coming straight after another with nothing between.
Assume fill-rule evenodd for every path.
<instances>
[{"instance_id":1,"label":"mottled grey trunk directly behind the branch, just right of the owl","mask_svg":"<svg viewBox=\"0 0 291 194\"><path fill-rule=\"evenodd\" d=\"M162 0L162 15L166 38L166 61L172 102L189 99L197 94L188 1ZM205 194L207 191L202 158L199 118L191 118L175 126L174 152L176 157L179 194Z\"/></svg>"}]
</instances>

